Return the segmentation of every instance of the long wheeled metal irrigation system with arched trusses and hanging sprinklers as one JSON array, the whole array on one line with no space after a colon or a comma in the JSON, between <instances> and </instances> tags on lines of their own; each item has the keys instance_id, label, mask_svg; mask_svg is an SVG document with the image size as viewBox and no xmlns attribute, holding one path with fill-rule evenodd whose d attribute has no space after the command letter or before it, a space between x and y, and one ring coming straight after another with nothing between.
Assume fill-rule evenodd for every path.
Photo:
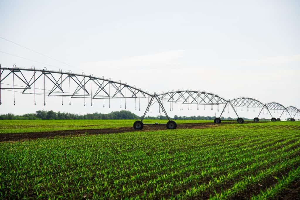
<instances>
[{"instance_id":1,"label":"long wheeled metal irrigation system with arched trusses and hanging sprinklers","mask_svg":"<svg viewBox=\"0 0 300 200\"><path fill-rule=\"evenodd\" d=\"M238 108L243 110L247 108L261 108L259 115L263 110L268 111L271 115L271 121L280 121L280 117L286 112L290 116L290 121L295 121L295 116L300 115L300 110L294 106L284 107L280 103L267 103L263 104L260 101L253 98L236 98L233 100L225 100L216 94L211 94L205 91L198 90L178 90L168 91L150 94L148 91L143 91L137 88L135 85L128 85L126 82L122 83L119 81L113 81L111 79L104 79L95 77L93 74L85 75L82 74L63 72L61 69L58 71L44 69L35 69L34 66L31 68L18 68L16 65L13 67L1 67L0 65L0 105L2 105L1 91L12 91L13 92L13 105L16 105L15 93L19 92L22 94L32 94L34 105L36 105L36 95L42 95L44 97L44 106L46 106L47 97L58 97L61 98L61 104L64 104L64 100L67 98L68 104L71 105L71 98L83 98L84 106L87 103L91 103L93 106L93 100L103 100L103 107L108 104L110 107L111 100L119 99L120 108L122 106L126 109L126 99L135 100L135 109L140 110L140 100L147 99L148 105L140 121L134 122L134 129L143 129L143 119L147 112L152 112L152 106L158 103L159 110L168 118L167 128L176 129L177 124L175 121L170 120L167 110L165 109L164 103L169 104L170 111L174 109L174 104L179 105L179 110L183 110L183 105L187 105L189 110L199 110L201 105L210 107L211 110L214 106L217 106L217 111L221 110L220 117L214 119L214 123L221 123L221 116L225 112L225 109L231 107L237 116L237 122L244 123L243 118L238 116L236 112ZM122 101L123 100L123 101ZM222 108L219 108L219 107ZM280 112L279 118L274 118L271 114L272 111ZM291 115L292 114L292 115ZM259 119L268 120L266 118L259 118L259 115L253 119L258 122ZM158 124L158 123L155 123Z\"/></svg>"}]
</instances>

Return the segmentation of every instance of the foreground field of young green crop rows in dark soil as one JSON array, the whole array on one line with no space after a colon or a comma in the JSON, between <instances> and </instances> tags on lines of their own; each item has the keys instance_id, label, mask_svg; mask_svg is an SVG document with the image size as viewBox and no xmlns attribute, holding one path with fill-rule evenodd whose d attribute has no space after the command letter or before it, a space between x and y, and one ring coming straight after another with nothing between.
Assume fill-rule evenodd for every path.
<instances>
[{"instance_id":1,"label":"foreground field of young green crop rows in dark soil","mask_svg":"<svg viewBox=\"0 0 300 200\"><path fill-rule=\"evenodd\" d=\"M0 144L2 199L300 198L298 121Z\"/></svg>"}]
</instances>

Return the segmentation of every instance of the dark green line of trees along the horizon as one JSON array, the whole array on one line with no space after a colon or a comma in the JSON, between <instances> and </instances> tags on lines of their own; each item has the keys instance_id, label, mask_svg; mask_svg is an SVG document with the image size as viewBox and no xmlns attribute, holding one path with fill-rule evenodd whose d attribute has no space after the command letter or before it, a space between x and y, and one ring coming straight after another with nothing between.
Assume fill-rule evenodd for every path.
<instances>
[{"instance_id":1,"label":"dark green line of trees along the horizon","mask_svg":"<svg viewBox=\"0 0 300 200\"><path fill-rule=\"evenodd\" d=\"M85 115L73 114L68 112L54 112L53 110L44 111L38 110L35 113L29 113L24 115L14 115L12 113L0 115L0 120L64 120L64 119L140 119L141 117L126 110L115 111L111 113L90 113ZM211 116L177 116L175 115L173 120L214 120L216 117ZM158 115L156 117L147 116L145 119L167 119L166 116ZM225 118L221 118L224 120ZM227 118L226 118L227 119ZM233 118L229 118L232 119ZM245 118L244 118L245 119Z\"/></svg>"}]
</instances>

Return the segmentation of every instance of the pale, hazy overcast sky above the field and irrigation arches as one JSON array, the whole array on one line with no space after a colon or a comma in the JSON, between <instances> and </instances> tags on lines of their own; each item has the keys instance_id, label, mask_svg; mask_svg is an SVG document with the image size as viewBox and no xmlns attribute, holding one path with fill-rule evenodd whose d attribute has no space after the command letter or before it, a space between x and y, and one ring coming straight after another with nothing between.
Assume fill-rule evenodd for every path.
<instances>
[{"instance_id":1,"label":"pale, hazy overcast sky above the field and irrigation arches","mask_svg":"<svg viewBox=\"0 0 300 200\"><path fill-rule=\"evenodd\" d=\"M61 61L0 38L0 64L84 71L152 93L198 89L300 108L299 13L299 1L0 1L0 37ZM33 106L23 94L13 106L11 92L4 94L0 113L120 109L80 100Z\"/></svg>"}]
</instances>

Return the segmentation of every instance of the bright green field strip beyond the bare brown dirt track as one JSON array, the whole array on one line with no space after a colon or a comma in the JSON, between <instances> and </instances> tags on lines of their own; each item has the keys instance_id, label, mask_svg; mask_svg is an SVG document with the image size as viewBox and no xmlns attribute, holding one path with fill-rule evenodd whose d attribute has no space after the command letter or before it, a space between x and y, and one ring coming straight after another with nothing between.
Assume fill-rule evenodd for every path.
<instances>
[{"instance_id":1,"label":"bright green field strip beyond the bare brown dirt track","mask_svg":"<svg viewBox=\"0 0 300 200\"><path fill-rule=\"evenodd\" d=\"M0 120L0 133L31 133L58 130L132 127L136 120ZM144 120L144 123L167 123L167 120ZM205 123L209 120L176 120L177 124Z\"/></svg>"}]
</instances>

